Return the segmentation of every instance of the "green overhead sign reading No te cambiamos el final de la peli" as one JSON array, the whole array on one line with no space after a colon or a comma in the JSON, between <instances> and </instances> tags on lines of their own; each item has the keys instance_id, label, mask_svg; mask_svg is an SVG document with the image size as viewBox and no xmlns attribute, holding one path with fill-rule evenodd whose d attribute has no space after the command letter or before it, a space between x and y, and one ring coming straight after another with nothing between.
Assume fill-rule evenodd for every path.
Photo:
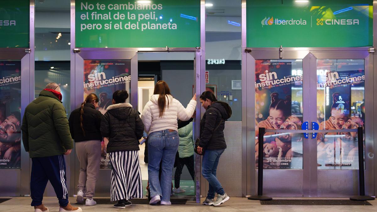
<instances>
[{"instance_id":1,"label":"green overhead sign reading No te cambiamos el final de la peli","mask_svg":"<svg viewBox=\"0 0 377 212\"><path fill-rule=\"evenodd\" d=\"M200 0L76 0L75 4L76 47L200 46Z\"/></svg>"}]
</instances>

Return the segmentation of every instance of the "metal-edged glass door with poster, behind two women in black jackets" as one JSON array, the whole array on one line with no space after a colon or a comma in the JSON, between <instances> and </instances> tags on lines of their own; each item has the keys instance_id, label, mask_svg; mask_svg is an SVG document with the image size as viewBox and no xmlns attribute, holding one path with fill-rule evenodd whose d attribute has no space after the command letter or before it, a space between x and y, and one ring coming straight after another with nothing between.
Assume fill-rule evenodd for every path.
<instances>
[{"instance_id":1,"label":"metal-edged glass door with poster, behind two women in black jackets","mask_svg":"<svg viewBox=\"0 0 377 212\"><path fill-rule=\"evenodd\" d=\"M137 51L119 51L114 49L93 51L81 49L75 54L75 72L71 76L74 91L71 91L71 109L78 108L90 93L99 98L98 110L104 114L112 104L112 94L116 90L126 90L129 98L126 102L133 108L138 108L137 83ZM96 195L110 195L110 170L109 154L106 152L107 138L101 141L100 174L97 180ZM74 173L71 180L72 191L77 190L80 163L77 157L70 158L74 165L70 170ZM68 168L67 168L68 169ZM75 193L75 192L74 192Z\"/></svg>"}]
</instances>

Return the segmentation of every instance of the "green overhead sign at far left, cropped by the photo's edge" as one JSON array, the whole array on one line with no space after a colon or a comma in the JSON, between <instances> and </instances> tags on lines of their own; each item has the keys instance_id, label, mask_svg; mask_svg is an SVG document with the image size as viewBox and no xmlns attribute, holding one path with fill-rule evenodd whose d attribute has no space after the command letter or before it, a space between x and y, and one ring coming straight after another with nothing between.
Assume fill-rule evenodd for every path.
<instances>
[{"instance_id":1,"label":"green overhead sign at far left, cropped by the photo's edge","mask_svg":"<svg viewBox=\"0 0 377 212\"><path fill-rule=\"evenodd\" d=\"M0 1L0 48L29 47L29 0Z\"/></svg>"}]
</instances>

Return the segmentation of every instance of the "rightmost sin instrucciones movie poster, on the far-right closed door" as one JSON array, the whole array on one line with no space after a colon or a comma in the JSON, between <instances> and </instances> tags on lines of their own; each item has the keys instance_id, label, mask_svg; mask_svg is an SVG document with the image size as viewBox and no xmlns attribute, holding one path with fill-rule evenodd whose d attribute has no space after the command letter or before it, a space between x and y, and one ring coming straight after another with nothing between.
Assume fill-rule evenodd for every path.
<instances>
[{"instance_id":1,"label":"rightmost sin instrucciones movie poster, on the far-right closed door","mask_svg":"<svg viewBox=\"0 0 377 212\"><path fill-rule=\"evenodd\" d=\"M364 126L364 60L317 60L320 130ZM318 169L358 169L356 132L317 135Z\"/></svg>"}]
</instances>

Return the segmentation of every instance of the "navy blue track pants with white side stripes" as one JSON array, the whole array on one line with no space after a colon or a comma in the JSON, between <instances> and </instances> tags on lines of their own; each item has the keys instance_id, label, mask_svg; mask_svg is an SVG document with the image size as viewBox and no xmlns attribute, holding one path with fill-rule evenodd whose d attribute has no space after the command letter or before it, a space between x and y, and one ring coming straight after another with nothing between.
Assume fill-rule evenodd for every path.
<instances>
[{"instance_id":1,"label":"navy blue track pants with white side stripes","mask_svg":"<svg viewBox=\"0 0 377 212\"><path fill-rule=\"evenodd\" d=\"M59 199L60 206L68 204L68 190L66 178L66 161L63 155L55 155L42 158L31 158L31 206L42 204L43 193L47 182L50 181L54 187L56 197Z\"/></svg>"}]
</instances>

